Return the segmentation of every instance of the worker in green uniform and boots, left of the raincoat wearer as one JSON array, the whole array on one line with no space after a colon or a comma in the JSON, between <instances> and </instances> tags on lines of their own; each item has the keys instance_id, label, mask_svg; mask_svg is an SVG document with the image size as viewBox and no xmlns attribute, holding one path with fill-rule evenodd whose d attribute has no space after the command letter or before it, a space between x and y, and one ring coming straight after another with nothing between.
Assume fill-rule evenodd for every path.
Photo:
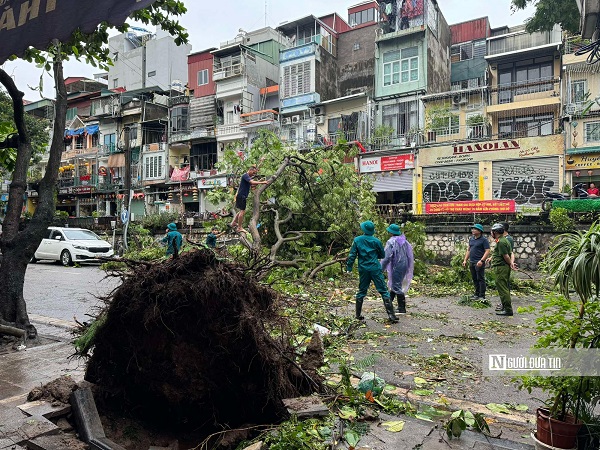
<instances>
[{"instance_id":1,"label":"worker in green uniform and boots, left of the raincoat wearer","mask_svg":"<svg viewBox=\"0 0 600 450\"><path fill-rule=\"evenodd\" d=\"M348 260L346 261L346 270L352 272L352 266L354 261L358 257L358 292L356 293L356 318L363 320L364 317L361 315L362 304L365 296L367 295L367 289L371 281L375 284L375 289L381 294L383 298L383 304L388 315L388 319L392 323L398 322L396 314L394 313L394 307L390 300L390 293L387 290L385 279L383 277L383 271L381 270L380 259L385 257L385 251L383 244L375 236L375 224L370 220L360 224L360 228L363 231L362 236L354 238Z\"/></svg>"}]
</instances>

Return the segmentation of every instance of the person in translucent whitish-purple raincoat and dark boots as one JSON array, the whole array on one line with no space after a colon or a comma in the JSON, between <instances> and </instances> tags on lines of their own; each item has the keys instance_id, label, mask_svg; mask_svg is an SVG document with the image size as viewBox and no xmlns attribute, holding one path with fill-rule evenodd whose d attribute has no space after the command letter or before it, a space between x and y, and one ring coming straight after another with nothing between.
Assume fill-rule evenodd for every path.
<instances>
[{"instance_id":1,"label":"person in translucent whitish-purple raincoat and dark boots","mask_svg":"<svg viewBox=\"0 0 600 450\"><path fill-rule=\"evenodd\" d=\"M412 245L395 223L386 230L392 235L385 244L385 257L381 260L381 270L387 271L390 298L398 297L398 313L406 314L406 292L412 281L415 258Z\"/></svg>"}]
</instances>

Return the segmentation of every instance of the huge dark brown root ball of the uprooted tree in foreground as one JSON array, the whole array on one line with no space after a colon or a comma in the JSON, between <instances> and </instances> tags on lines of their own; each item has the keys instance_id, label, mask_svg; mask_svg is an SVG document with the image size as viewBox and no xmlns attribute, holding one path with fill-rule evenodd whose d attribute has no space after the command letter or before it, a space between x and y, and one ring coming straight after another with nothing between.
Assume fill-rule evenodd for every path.
<instances>
[{"instance_id":1,"label":"huge dark brown root ball of the uprooted tree in foreground","mask_svg":"<svg viewBox=\"0 0 600 450\"><path fill-rule=\"evenodd\" d=\"M111 404L210 432L277 420L283 398L320 389L295 362L277 294L244 268L198 250L122 277L86 372Z\"/></svg>"}]
</instances>

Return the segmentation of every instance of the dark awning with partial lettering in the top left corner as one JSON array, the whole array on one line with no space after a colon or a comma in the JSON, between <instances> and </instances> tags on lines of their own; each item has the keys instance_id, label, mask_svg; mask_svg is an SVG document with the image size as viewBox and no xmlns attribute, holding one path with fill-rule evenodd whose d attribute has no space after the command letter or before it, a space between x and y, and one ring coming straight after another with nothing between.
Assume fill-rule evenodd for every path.
<instances>
[{"instance_id":1,"label":"dark awning with partial lettering in the top left corner","mask_svg":"<svg viewBox=\"0 0 600 450\"><path fill-rule=\"evenodd\" d=\"M93 32L100 22L121 25L155 0L0 0L0 64L28 47L44 50L67 41L76 28Z\"/></svg>"}]
</instances>

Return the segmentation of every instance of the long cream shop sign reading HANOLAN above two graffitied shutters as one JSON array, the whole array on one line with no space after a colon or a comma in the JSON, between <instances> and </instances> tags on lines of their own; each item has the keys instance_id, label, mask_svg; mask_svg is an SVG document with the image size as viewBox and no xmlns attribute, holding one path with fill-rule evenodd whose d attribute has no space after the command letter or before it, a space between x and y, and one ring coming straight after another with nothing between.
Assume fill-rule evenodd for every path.
<instances>
[{"instance_id":1,"label":"long cream shop sign reading HANOLAN above two graffitied shutters","mask_svg":"<svg viewBox=\"0 0 600 450\"><path fill-rule=\"evenodd\" d=\"M553 134L521 139L441 145L421 149L419 151L419 165L430 167L563 154L563 136Z\"/></svg>"}]
</instances>

